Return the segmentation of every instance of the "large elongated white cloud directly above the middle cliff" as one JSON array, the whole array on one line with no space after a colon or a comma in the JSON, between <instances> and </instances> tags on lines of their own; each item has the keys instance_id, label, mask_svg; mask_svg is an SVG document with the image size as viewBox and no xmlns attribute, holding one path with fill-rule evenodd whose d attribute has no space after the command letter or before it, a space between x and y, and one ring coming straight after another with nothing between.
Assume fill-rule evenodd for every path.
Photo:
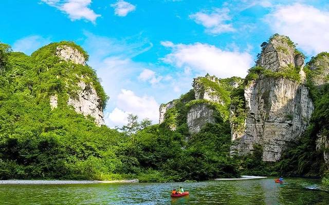
<instances>
[{"instance_id":1,"label":"large elongated white cloud directly above the middle cliff","mask_svg":"<svg viewBox=\"0 0 329 205\"><path fill-rule=\"evenodd\" d=\"M221 78L245 77L253 64L252 56L246 51L226 51L201 43L174 45L172 52L162 60L178 68L188 68L203 74L208 72Z\"/></svg>"}]
</instances>

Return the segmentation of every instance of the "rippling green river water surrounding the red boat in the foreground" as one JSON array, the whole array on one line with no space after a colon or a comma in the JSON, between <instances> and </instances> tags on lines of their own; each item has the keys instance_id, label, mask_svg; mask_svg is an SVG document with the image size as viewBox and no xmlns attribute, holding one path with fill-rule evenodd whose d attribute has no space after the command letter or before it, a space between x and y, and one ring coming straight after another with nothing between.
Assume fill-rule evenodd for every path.
<instances>
[{"instance_id":1,"label":"rippling green river water surrounding the red boat in the foreground","mask_svg":"<svg viewBox=\"0 0 329 205\"><path fill-rule=\"evenodd\" d=\"M0 204L329 204L319 180L273 178L181 183L0 185ZM189 196L171 198L183 186Z\"/></svg>"}]
</instances>

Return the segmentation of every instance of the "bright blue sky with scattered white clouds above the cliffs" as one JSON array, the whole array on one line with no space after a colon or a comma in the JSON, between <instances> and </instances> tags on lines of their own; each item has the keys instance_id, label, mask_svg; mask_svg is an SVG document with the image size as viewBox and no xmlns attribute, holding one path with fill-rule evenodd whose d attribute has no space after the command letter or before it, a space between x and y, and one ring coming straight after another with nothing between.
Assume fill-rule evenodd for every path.
<instances>
[{"instance_id":1,"label":"bright blue sky with scattered white clouds above the cliffs","mask_svg":"<svg viewBox=\"0 0 329 205\"><path fill-rule=\"evenodd\" d=\"M274 33L308 59L329 50L327 0L1 0L0 9L0 42L14 51L70 40L89 53L109 127L130 113L157 123L159 106L194 77L245 77Z\"/></svg>"}]
</instances>

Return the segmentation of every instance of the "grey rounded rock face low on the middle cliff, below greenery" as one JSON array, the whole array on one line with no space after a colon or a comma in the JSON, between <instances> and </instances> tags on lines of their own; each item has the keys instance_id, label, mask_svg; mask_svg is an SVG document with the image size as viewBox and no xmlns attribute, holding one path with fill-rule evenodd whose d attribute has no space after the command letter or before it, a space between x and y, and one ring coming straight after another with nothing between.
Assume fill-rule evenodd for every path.
<instances>
[{"instance_id":1,"label":"grey rounded rock face low on the middle cliff, below greenery","mask_svg":"<svg viewBox=\"0 0 329 205\"><path fill-rule=\"evenodd\" d=\"M187 113L187 125L190 133L199 132L200 129L209 123L215 123L214 109L206 104L193 105Z\"/></svg>"}]
</instances>

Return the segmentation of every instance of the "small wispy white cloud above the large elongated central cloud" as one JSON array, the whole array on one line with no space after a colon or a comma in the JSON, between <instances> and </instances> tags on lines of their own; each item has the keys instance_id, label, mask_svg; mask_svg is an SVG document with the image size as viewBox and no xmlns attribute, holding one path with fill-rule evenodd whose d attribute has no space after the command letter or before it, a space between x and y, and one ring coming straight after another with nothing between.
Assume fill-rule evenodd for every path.
<instances>
[{"instance_id":1,"label":"small wispy white cloud above the large elongated central cloud","mask_svg":"<svg viewBox=\"0 0 329 205\"><path fill-rule=\"evenodd\" d=\"M213 12L199 11L191 14L189 17L197 24L206 27L206 32L211 34L220 34L224 32L233 32L235 29L232 24L228 23L231 20L229 9L214 9Z\"/></svg>"}]
</instances>

